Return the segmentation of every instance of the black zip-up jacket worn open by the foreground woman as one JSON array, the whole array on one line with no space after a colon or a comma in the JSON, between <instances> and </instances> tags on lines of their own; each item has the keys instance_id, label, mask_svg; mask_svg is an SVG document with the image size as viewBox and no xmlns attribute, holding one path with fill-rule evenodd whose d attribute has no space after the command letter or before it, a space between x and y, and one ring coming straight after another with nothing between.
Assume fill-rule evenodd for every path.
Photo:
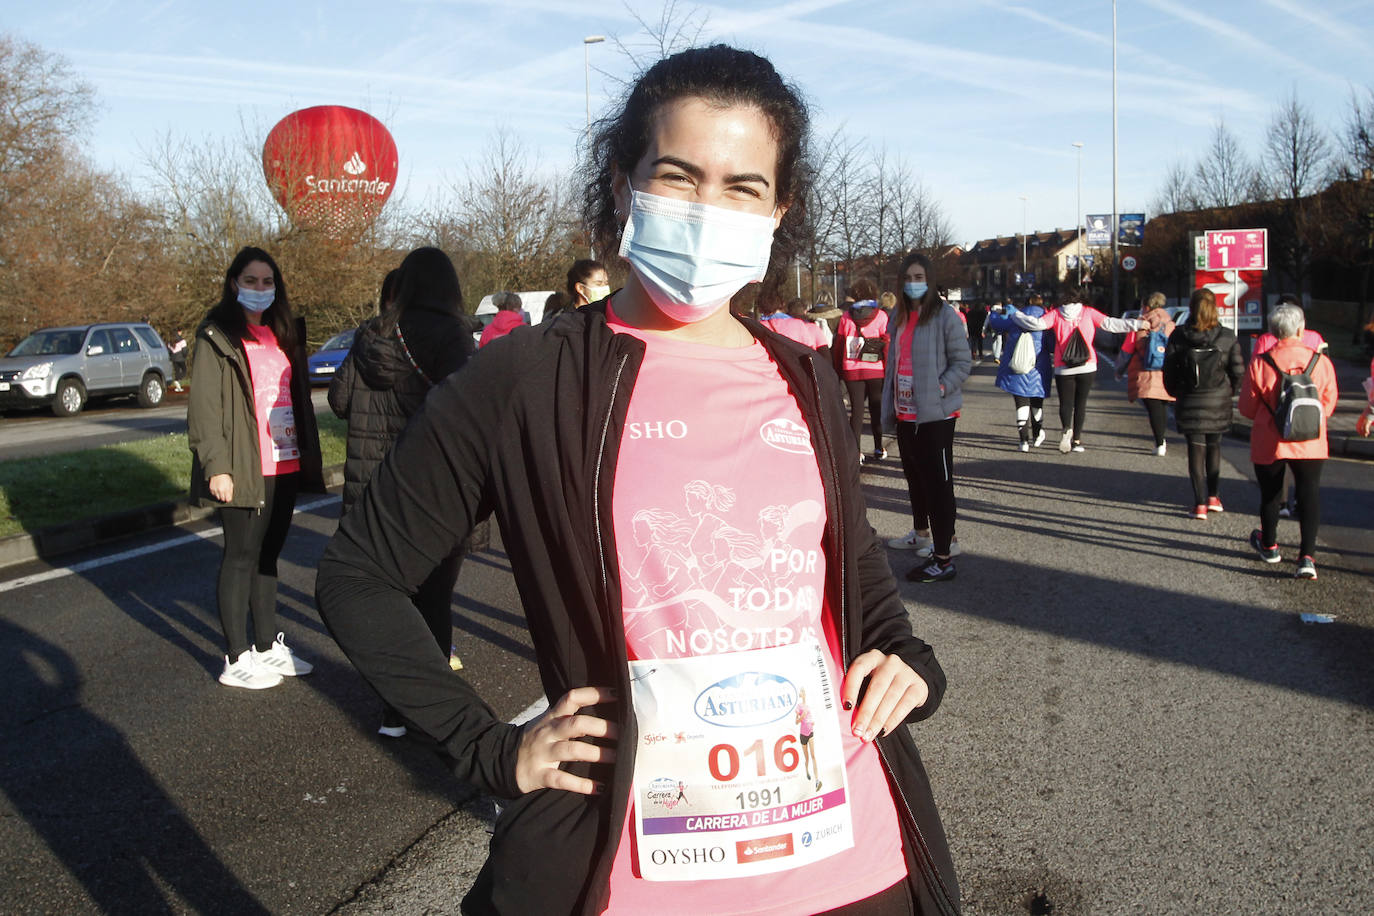
<instances>
[{"instance_id":1,"label":"black zip-up jacket worn open by the foreground woman","mask_svg":"<svg viewBox=\"0 0 1374 916\"><path fill-rule=\"evenodd\" d=\"M826 494L826 607L842 663L881 650L930 687L908 722L934 713L945 677L912 636L886 553L867 522L838 378L816 353L745 320L811 428ZM631 695L611 525L611 485L644 345L606 324L605 305L518 328L430 393L319 566L320 615L374 688L453 757L455 773L514 799L464 913L599 913L625 818L638 731L629 703L584 710L620 725L617 762L572 765L600 795L521 794L521 731L448 667L407 593L495 512L525 606L545 695L574 687ZM958 913L954 862L910 729L878 739L922 913Z\"/></svg>"}]
</instances>

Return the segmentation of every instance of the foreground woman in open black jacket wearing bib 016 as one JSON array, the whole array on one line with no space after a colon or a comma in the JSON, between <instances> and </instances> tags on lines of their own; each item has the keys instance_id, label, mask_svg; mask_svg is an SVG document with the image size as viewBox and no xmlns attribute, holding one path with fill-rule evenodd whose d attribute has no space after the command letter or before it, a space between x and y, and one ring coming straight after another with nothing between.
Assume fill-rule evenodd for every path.
<instances>
[{"instance_id":1,"label":"foreground woman in open black jacket wearing bib 016","mask_svg":"<svg viewBox=\"0 0 1374 916\"><path fill-rule=\"evenodd\" d=\"M807 135L757 55L650 67L588 166L587 221L625 286L436 389L320 562L353 663L513 799L464 912L958 912L907 728L944 676L867 523L838 380L728 309L790 262ZM492 511L551 698L523 726L407 611ZM661 740L679 732L699 737Z\"/></svg>"}]
</instances>

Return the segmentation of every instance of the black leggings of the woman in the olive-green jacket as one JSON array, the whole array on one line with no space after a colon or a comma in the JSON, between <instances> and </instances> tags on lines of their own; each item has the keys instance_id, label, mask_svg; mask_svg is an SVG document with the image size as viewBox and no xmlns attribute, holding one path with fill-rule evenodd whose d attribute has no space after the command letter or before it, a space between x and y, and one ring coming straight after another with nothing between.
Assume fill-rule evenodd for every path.
<instances>
[{"instance_id":1,"label":"black leggings of the woman in the olive-green jacket","mask_svg":"<svg viewBox=\"0 0 1374 916\"><path fill-rule=\"evenodd\" d=\"M276 558L295 511L295 474L262 478L261 509L221 507L224 559L220 562L220 625L229 661L249 648L247 623L253 612L253 645L267 651L276 639Z\"/></svg>"}]
</instances>

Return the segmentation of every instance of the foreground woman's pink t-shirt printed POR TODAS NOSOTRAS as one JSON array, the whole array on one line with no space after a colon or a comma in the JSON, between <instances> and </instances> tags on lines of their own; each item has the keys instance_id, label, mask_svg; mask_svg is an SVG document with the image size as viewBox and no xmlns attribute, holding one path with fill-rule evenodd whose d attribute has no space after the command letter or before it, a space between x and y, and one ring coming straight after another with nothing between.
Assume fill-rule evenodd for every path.
<instances>
[{"instance_id":1,"label":"foreground woman's pink t-shirt printed POR TODAS NOSOTRAS","mask_svg":"<svg viewBox=\"0 0 1374 916\"><path fill-rule=\"evenodd\" d=\"M778 367L758 343L732 349L671 341L625 325L610 308L607 320L646 345L611 497L632 663L709 663L815 639L838 689L838 639L823 612L824 492L809 430ZM809 736L823 731L819 720L826 715L831 721L824 733L840 735L853 846L764 875L647 880L638 861L632 799L611 868L609 913L815 913L905 878L897 813L877 748L851 735L849 714L838 703L827 709L812 696L798 707L805 709L801 733L808 740L818 740ZM657 710L642 710L636 700L635 711L644 732ZM787 711L786 721L794 715L796 709ZM682 732L668 729L676 737L642 733L640 744L688 742L684 754L705 754L705 747L691 750L692 729L684 725ZM680 805L675 813L690 814L702 787L676 775L669 781L669 801ZM697 835L708 845L712 836ZM796 840L800 847L811 836Z\"/></svg>"}]
</instances>

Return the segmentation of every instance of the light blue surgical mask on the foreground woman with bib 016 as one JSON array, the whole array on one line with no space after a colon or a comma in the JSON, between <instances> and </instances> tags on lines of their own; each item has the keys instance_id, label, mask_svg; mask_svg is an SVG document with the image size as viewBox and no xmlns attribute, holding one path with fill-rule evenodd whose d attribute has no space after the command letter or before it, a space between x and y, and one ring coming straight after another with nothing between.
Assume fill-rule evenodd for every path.
<instances>
[{"instance_id":1,"label":"light blue surgical mask on the foreground woman with bib 016","mask_svg":"<svg viewBox=\"0 0 1374 916\"><path fill-rule=\"evenodd\" d=\"M632 190L620 255L660 312L690 324L764 279L772 235L771 216Z\"/></svg>"}]
</instances>

